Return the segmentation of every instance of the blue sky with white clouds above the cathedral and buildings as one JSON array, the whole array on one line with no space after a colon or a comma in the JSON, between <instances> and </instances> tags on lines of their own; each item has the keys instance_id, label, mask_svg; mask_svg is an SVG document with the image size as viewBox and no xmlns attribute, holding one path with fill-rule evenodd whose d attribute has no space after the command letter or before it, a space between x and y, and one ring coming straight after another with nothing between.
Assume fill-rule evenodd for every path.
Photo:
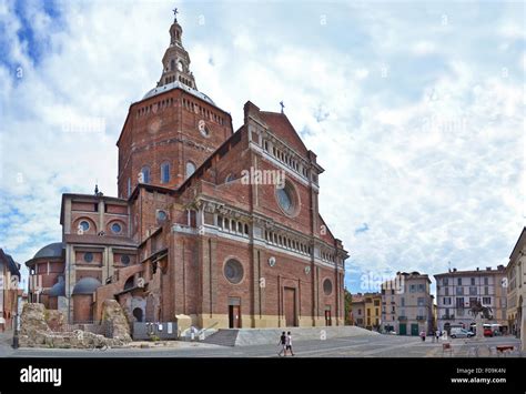
<instances>
[{"instance_id":1,"label":"blue sky with white clouds above the cathedral and buildings","mask_svg":"<svg viewBox=\"0 0 526 394\"><path fill-rule=\"evenodd\" d=\"M198 88L285 113L325 168L346 284L506 264L525 220L523 2L0 0L0 247L60 241L60 196L117 194L115 142L171 10Z\"/></svg>"}]
</instances>

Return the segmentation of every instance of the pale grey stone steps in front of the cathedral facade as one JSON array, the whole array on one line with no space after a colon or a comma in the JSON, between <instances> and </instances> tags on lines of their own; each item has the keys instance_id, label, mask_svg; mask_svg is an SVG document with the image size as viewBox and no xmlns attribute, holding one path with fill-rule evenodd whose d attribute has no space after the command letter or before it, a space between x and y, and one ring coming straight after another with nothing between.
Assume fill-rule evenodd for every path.
<instances>
[{"instance_id":1,"label":"pale grey stone steps in front of the cathedral facade","mask_svg":"<svg viewBox=\"0 0 526 394\"><path fill-rule=\"evenodd\" d=\"M220 329L203 342L223 346L250 346L277 344L281 333L291 332L293 343L297 341L331 340L334 337L380 335L376 332L347 326L331 327L289 327L289 329Z\"/></svg>"}]
</instances>

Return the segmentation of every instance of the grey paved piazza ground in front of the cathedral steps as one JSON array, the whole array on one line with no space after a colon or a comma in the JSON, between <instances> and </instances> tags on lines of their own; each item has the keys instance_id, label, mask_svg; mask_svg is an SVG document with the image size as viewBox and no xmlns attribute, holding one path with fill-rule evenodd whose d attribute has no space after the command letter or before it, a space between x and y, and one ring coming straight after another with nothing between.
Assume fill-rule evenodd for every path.
<instances>
[{"instance_id":1,"label":"grey paved piazza ground in front of the cathedral steps","mask_svg":"<svg viewBox=\"0 0 526 394\"><path fill-rule=\"evenodd\" d=\"M277 341L276 341L277 343ZM422 342L414 336L354 336L332 339L325 341L299 341L294 343L295 357L449 357L443 355L442 341L433 343ZM453 356L496 357L496 345L519 345L513 336L476 340L451 340ZM107 351L83 351L68 348L19 348L10 347L9 334L0 337L0 356L2 357L277 357L277 345L254 346L218 346L191 342L169 342L141 348L134 347L110 348ZM489 351L490 350L490 351ZM503 356L517 357L518 354Z\"/></svg>"}]
</instances>

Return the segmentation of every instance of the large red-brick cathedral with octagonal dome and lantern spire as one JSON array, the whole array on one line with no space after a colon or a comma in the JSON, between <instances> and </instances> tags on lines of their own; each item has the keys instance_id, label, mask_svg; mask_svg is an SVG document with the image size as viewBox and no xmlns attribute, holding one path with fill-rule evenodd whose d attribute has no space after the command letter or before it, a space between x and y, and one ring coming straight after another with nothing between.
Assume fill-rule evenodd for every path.
<instances>
[{"instance_id":1,"label":"large red-brick cathedral with octagonal dome and lantern spire","mask_svg":"<svg viewBox=\"0 0 526 394\"><path fill-rule=\"evenodd\" d=\"M156 87L130 105L119 196L62 195L62 242L26 263L30 301L70 323L100 321L112 299L130 321L343 325L347 253L318 212L316 155L283 111L250 101L234 132L182 33L175 18Z\"/></svg>"}]
</instances>

